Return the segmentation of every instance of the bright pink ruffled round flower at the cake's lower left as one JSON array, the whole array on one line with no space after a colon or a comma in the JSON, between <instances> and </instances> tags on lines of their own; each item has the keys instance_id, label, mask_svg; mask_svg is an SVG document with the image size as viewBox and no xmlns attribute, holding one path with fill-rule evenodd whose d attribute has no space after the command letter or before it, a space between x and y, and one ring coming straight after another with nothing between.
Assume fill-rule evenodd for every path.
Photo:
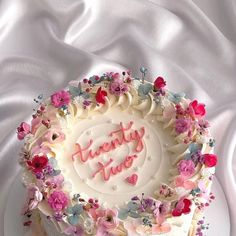
<instances>
[{"instance_id":1,"label":"bright pink ruffled round flower at the cake's lower left","mask_svg":"<svg viewBox=\"0 0 236 236\"><path fill-rule=\"evenodd\" d=\"M64 192L56 190L49 196L48 203L54 211L58 212L65 209L69 203L69 199Z\"/></svg>"}]
</instances>

